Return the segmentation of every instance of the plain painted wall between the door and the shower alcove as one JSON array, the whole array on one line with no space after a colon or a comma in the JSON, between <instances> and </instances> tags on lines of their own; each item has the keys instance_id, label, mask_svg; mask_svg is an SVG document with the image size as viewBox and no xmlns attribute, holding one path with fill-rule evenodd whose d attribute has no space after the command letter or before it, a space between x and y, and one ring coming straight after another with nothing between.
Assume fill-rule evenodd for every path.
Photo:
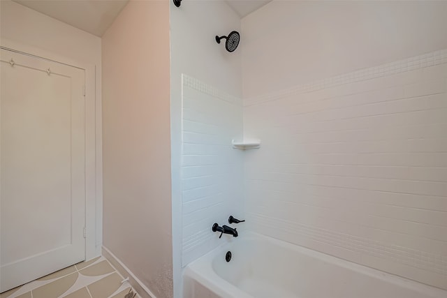
<instances>
[{"instance_id":1,"label":"plain painted wall between the door and the shower alcove","mask_svg":"<svg viewBox=\"0 0 447 298\"><path fill-rule=\"evenodd\" d=\"M104 246L172 297L168 1L130 1L102 45Z\"/></svg>"}]
</instances>

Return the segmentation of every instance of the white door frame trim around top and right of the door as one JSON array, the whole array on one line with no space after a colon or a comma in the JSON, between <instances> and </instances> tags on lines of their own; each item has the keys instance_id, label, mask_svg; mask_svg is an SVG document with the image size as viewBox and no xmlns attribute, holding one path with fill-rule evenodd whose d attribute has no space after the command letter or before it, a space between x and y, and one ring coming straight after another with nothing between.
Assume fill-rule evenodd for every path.
<instances>
[{"instance_id":1,"label":"white door frame trim around top and right of the door","mask_svg":"<svg viewBox=\"0 0 447 298\"><path fill-rule=\"evenodd\" d=\"M101 69L6 38L1 38L0 47L85 70L85 260L96 258L101 255L103 218L101 90L96 84Z\"/></svg>"}]
</instances>

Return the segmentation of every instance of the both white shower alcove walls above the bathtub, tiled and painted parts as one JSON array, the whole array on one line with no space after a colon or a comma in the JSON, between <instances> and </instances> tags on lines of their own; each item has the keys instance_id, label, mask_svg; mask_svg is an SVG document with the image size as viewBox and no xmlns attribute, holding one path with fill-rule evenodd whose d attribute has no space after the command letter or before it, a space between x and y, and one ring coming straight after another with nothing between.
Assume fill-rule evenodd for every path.
<instances>
[{"instance_id":1,"label":"both white shower alcove walls above the bathtub, tiled and painted parts","mask_svg":"<svg viewBox=\"0 0 447 298\"><path fill-rule=\"evenodd\" d=\"M174 270L251 230L447 289L446 3L222 4L170 12Z\"/></svg>"}]
</instances>

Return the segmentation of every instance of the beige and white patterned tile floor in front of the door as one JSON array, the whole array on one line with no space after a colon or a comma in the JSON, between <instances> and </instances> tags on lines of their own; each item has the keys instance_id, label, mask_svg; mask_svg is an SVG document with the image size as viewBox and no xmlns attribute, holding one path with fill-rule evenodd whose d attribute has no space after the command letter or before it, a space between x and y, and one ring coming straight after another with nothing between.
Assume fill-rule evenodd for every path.
<instances>
[{"instance_id":1,"label":"beige and white patterned tile floor in front of the door","mask_svg":"<svg viewBox=\"0 0 447 298\"><path fill-rule=\"evenodd\" d=\"M131 286L121 283L123 279L108 260L98 257L6 291L0 298L124 298Z\"/></svg>"}]
</instances>

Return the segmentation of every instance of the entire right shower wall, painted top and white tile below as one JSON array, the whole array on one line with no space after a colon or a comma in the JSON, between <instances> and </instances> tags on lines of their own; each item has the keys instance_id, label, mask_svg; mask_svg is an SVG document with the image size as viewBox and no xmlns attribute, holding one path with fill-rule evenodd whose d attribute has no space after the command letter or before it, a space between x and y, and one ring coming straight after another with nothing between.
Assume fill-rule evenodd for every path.
<instances>
[{"instance_id":1,"label":"entire right shower wall, painted top and white tile below","mask_svg":"<svg viewBox=\"0 0 447 298\"><path fill-rule=\"evenodd\" d=\"M446 2L242 20L249 228L447 289Z\"/></svg>"}]
</instances>

